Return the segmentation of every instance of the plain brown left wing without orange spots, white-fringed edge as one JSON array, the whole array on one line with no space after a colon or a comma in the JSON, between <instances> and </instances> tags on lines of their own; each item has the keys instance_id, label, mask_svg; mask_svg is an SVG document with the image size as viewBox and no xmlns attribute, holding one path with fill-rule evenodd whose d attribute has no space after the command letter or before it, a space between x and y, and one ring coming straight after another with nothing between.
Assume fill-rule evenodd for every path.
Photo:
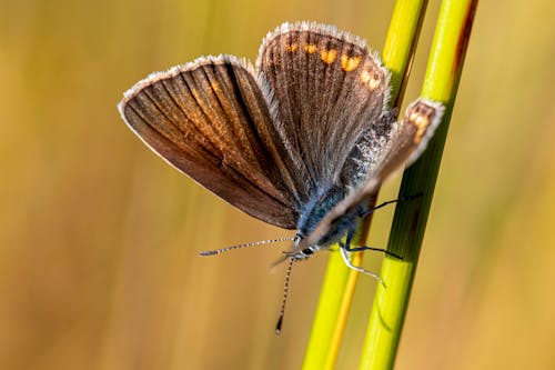
<instances>
[{"instance_id":1,"label":"plain brown left wing without orange spots, white-fringed edge","mask_svg":"<svg viewBox=\"0 0 555 370\"><path fill-rule=\"evenodd\" d=\"M291 159L262 89L244 61L209 57L151 74L119 109L178 170L242 211L294 229L299 194Z\"/></svg>"}]
</instances>

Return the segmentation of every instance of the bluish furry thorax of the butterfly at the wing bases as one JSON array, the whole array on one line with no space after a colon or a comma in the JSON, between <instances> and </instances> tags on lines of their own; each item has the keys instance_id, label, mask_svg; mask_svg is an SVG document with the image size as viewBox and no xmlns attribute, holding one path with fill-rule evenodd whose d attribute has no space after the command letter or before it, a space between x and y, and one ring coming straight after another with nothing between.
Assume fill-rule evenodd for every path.
<instances>
[{"instance_id":1,"label":"bluish furry thorax of the butterfly at the wing bases","mask_svg":"<svg viewBox=\"0 0 555 370\"><path fill-rule=\"evenodd\" d=\"M315 193L301 212L297 222L297 238L309 236L324 216L332 210L343 198L345 191L343 187L332 187L327 191ZM293 256L295 260L302 260L322 248L330 247L339 242L350 230L354 230L360 214L364 212L364 207L357 207L332 224L330 230L315 244L303 249Z\"/></svg>"}]
</instances>

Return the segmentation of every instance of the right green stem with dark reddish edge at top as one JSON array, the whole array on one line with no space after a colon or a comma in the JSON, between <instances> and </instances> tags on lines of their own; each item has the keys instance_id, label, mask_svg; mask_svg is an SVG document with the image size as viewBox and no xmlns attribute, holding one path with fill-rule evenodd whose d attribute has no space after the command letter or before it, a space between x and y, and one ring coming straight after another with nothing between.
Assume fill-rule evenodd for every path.
<instances>
[{"instance_id":1,"label":"right green stem with dark reddish edge at top","mask_svg":"<svg viewBox=\"0 0 555 370\"><path fill-rule=\"evenodd\" d=\"M372 308L361 370L392 369L398 347L430 204L453 110L477 0L442 2L422 96L441 101L445 114L424 154L403 176L400 197L423 192L417 201L397 204Z\"/></svg>"}]
</instances>

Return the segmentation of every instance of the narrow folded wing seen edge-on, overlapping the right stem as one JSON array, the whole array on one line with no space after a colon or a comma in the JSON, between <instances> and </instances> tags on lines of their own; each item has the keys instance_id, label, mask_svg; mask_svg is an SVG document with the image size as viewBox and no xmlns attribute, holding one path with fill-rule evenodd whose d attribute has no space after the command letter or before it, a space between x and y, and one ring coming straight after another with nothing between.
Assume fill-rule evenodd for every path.
<instances>
[{"instance_id":1,"label":"narrow folded wing seen edge-on, overlapping the right stem","mask_svg":"<svg viewBox=\"0 0 555 370\"><path fill-rule=\"evenodd\" d=\"M387 144L377 166L371 171L360 189L339 202L316 224L313 231L302 239L294 251L317 244L332 226L356 206L374 196L382 183L403 166L411 166L424 151L444 112L444 107L434 101L418 99L406 109L397 132Z\"/></svg>"}]
</instances>

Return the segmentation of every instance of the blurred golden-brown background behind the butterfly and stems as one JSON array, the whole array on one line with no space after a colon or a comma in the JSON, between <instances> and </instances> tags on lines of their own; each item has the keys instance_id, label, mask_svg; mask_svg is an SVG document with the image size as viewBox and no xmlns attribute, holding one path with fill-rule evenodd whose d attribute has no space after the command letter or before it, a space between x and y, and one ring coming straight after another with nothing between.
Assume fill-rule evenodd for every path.
<instances>
[{"instance_id":1,"label":"blurred golden-brown background behind the butterfly and stems","mask_svg":"<svg viewBox=\"0 0 555 370\"><path fill-rule=\"evenodd\" d=\"M431 1L405 103L417 97ZM251 60L283 21L381 50L391 1L0 0L0 368L297 369L326 253L300 263L273 328L290 236L165 164L124 126L122 92L199 56ZM482 1L396 369L555 368L555 7ZM381 192L393 199L398 179ZM393 209L369 243L384 247ZM381 256L365 267L380 270ZM357 364L362 278L339 369Z\"/></svg>"}]
</instances>

